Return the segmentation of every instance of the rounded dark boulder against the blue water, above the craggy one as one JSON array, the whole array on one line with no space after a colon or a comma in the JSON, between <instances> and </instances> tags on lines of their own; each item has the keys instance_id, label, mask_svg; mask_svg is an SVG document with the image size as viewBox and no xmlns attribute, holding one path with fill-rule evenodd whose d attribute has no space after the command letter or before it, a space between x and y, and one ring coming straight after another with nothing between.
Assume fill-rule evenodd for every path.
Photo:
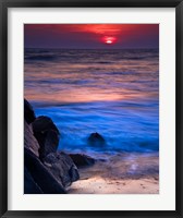
<instances>
[{"instance_id":1,"label":"rounded dark boulder against the blue water, above the craggy one","mask_svg":"<svg viewBox=\"0 0 183 218\"><path fill-rule=\"evenodd\" d=\"M52 120L48 117L40 116L33 123L34 135L37 138L40 149L39 157L41 160L49 154L57 152L60 133Z\"/></svg>"}]
</instances>

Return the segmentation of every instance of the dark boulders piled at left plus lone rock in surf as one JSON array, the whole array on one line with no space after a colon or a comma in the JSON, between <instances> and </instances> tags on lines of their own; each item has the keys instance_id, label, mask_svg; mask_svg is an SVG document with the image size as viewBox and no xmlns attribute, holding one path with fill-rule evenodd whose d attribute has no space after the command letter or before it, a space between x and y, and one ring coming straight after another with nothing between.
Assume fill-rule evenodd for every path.
<instances>
[{"instance_id":1,"label":"dark boulders piled at left plus lone rock in surf","mask_svg":"<svg viewBox=\"0 0 183 218\"><path fill-rule=\"evenodd\" d=\"M58 128L48 117L36 118L26 99L24 120L24 194L66 194L68 187L80 179L78 168L94 165L95 159L59 152ZM94 143L95 137L98 135L91 136Z\"/></svg>"}]
</instances>

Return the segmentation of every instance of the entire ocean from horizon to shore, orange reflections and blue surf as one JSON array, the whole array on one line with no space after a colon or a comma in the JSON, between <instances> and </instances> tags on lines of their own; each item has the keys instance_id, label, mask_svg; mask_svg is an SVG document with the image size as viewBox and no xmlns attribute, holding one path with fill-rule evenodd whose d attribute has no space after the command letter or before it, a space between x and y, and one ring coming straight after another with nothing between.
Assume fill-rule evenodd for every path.
<instances>
[{"instance_id":1,"label":"entire ocean from horizon to shore, orange reflections and blue surf","mask_svg":"<svg viewBox=\"0 0 183 218\"><path fill-rule=\"evenodd\" d=\"M157 49L25 49L24 59L25 98L60 130L59 149L158 153ZM94 132L105 146L88 145Z\"/></svg>"}]
</instances>

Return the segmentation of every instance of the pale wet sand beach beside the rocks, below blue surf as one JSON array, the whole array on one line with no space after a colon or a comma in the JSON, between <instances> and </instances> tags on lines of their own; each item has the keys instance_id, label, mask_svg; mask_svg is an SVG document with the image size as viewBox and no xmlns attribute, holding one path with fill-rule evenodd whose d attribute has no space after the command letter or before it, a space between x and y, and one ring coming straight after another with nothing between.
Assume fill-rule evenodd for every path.
<instances>
[{"instance_id":1,"label":"pale wet sand beach beside the rocks, below blue surf","mask_svg":"<svg viewBox=\"0 0 183 218\"><path fill-rule=\"evenodd\" d=\"M103 156L105 157L105 156ZM158 154L119 154L80 169L70 194L158 194Z\"/></svg>"}]
</instances>

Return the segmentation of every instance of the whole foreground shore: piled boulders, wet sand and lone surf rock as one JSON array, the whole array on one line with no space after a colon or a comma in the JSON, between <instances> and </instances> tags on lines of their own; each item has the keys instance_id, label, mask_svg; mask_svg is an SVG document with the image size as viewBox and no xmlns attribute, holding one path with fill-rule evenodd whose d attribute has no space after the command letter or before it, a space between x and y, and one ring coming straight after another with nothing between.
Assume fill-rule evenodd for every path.
<instances>
[{"instance_id":1,"label":"whole foreground shore: piled boulders, wet sand and lone surf rock","mask_svg":"<svg viewBox=\"0 0 183 218\"><path fill-rule=\"evenodd\" d=\"M158 194L159 154L105 150L98 133L87 140L103 147L95 159L58 150L61 133L53 121L37 117L24 100L24 194Z\"/></svg>"}]
</instances>

